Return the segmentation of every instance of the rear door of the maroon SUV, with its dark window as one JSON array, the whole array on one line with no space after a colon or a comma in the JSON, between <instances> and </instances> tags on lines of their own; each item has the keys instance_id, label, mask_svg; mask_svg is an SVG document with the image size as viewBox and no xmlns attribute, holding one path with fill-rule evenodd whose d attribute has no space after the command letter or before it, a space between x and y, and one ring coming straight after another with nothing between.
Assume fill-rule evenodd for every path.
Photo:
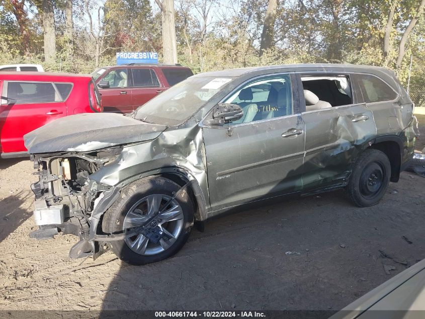
<instances>
[{"instance_id":1,"label":"rear door of the maroon SUV, with its dark window","mask_svg":"<svg viewBox=\"0 0 425 319\"><path fill-rule=\"evenodd\" d=\"M152 68L133 68L131 74L131 104L133 110L165 90Z\"/></svg>"}]
</instances>

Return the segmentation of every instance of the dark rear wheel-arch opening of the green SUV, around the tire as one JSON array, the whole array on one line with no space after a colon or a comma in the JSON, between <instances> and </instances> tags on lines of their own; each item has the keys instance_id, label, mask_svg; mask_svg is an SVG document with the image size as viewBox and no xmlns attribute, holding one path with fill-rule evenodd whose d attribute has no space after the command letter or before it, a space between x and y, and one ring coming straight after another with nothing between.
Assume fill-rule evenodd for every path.
<instances>
[{"instance_id":1,"label":"dark rear wheel-arch opening of the green SUV, around the tire","mask_svg":"<svg viewBox=\"0 0 425 319\"><path fill-rule=\"evenodd\" d=\"M403 141L396 135L381 136L373 140L369 148L383 152L391 164L390 181L397 182L400 178Z\"/></svg>"}]
</instances>

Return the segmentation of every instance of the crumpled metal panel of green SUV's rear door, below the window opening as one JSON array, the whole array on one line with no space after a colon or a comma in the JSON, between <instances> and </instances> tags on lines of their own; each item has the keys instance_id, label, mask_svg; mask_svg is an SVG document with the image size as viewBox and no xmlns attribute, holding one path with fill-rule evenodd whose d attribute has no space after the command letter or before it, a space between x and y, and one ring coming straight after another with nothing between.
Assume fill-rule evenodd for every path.
<instances>
[{"instance_id":1,"label":"crumpled metal panel of green SUV's rear door, below the window opening","mask_svg":"<svg viewBox=\"0 0 425 319\"><path fill-rule=\"evenodd\" d=\"M359 151L376 134L372 112L357 104L304 112L302 118L303 190L346 183Z\"/></svg>"}]
</instances>

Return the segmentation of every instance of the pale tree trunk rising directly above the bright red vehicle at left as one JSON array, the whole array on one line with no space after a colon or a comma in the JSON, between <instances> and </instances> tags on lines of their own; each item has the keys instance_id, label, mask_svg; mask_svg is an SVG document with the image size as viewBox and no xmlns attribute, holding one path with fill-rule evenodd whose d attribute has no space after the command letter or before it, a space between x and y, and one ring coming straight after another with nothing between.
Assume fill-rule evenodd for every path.
<instances>
[{"instance_id":1,"label":"pale tree trunk rising directly above the bright red vehicle at left","mask_svg":"<svg viewBox=\"0 0 425 319\"><path fill-rule=\"evenodd\" d=\"M43 0L41 9L44 35L44 59L46 62L53 62L56 56L56 32L52 1Z\"/></svg>"}]
</instances>

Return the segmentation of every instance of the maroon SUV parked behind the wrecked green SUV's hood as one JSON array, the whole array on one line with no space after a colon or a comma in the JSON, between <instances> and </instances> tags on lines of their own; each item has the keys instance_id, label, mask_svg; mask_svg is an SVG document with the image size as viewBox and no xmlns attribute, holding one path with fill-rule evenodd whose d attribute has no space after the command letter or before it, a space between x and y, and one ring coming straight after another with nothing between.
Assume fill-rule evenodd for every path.
<instances>
[{"instance_id":1,"label":"maroon SUV parked behind the wrecked green SUV's hood","mask_svg":"<svg viewBox=\"0 0 425 319\"><path fill-rule=\"evenodd\" d=\"M92 73L101 94L104 112L118 113L134 111L192 75L191 69L180 65L137 63L99 68Z\"/></svg>"}]
</instances>

